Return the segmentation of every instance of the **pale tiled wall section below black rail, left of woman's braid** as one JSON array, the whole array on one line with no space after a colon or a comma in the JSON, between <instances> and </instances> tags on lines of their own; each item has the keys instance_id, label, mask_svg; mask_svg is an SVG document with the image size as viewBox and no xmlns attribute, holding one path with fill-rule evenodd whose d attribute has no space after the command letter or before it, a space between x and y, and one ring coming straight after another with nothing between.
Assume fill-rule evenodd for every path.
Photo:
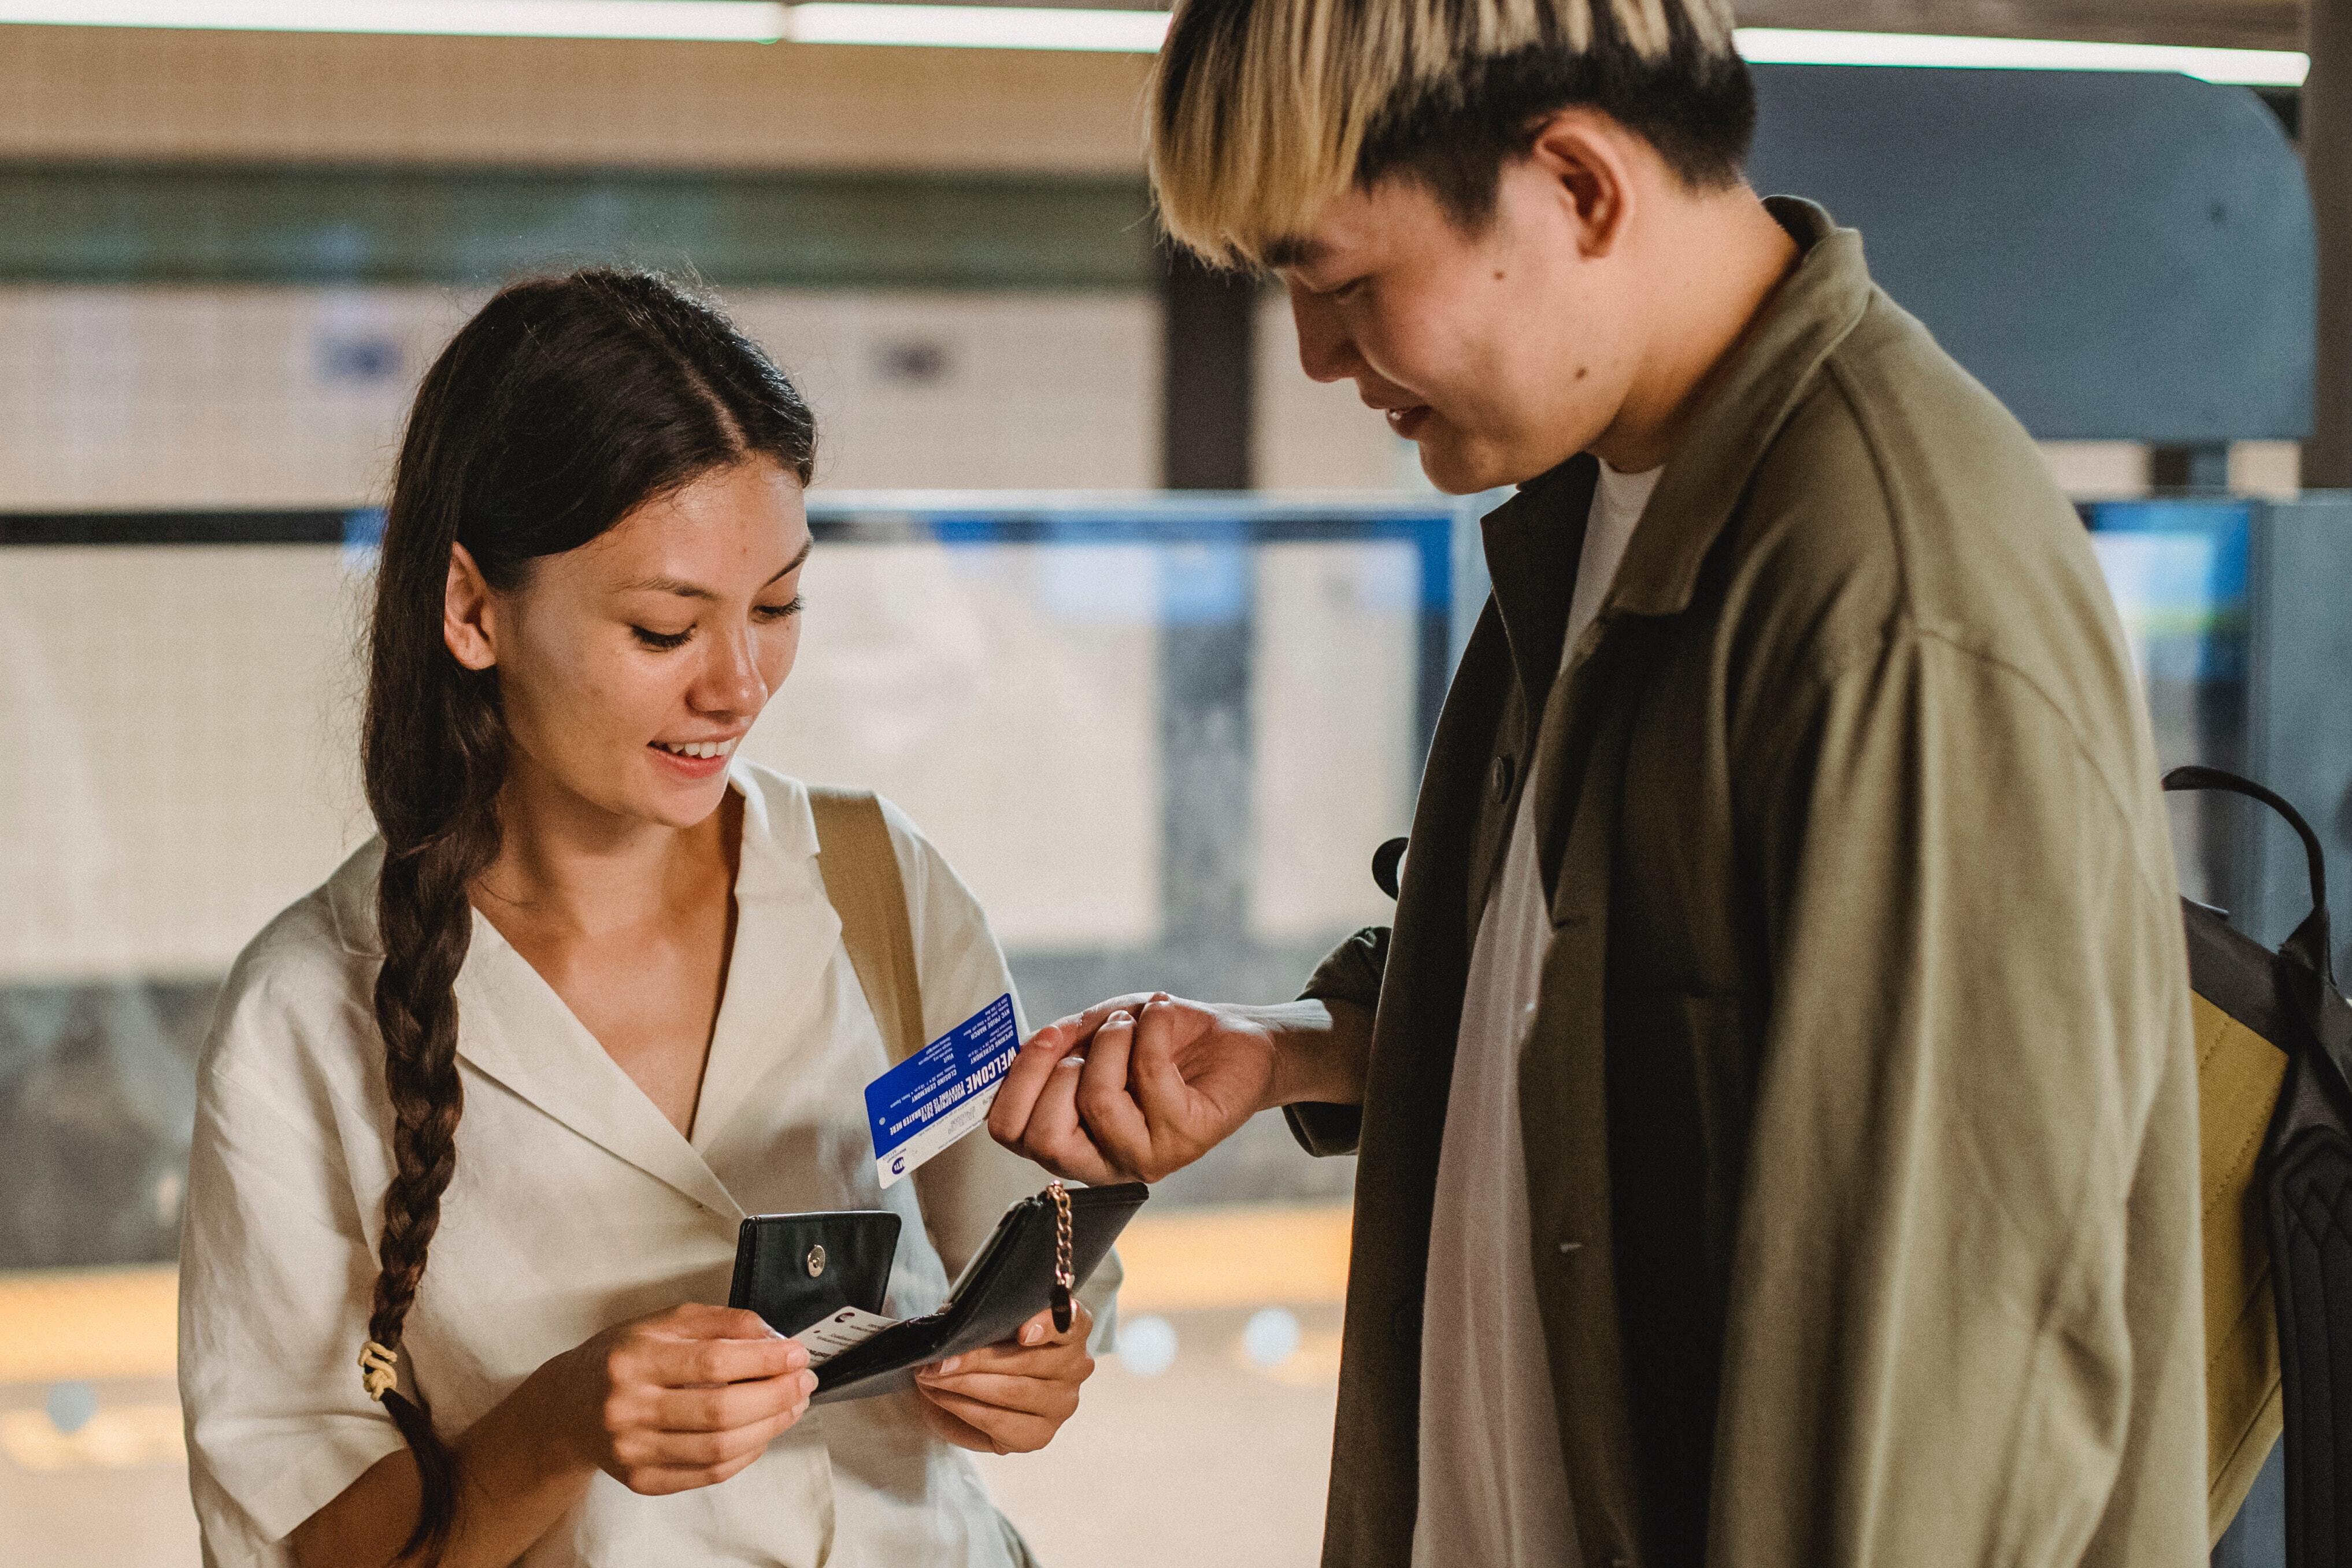
<instances>
[{"instance_id":1,"label":"pale tiled wall section below black rail, left of woman's braid","mask_svg":"<svg viewBox=\"0 0 2352 1568\"><path fill-rule=\"evenodd\" d=\"M216 976L362 832L334 550L0 555L0 978Z\"/></svg>"}]
</instances>

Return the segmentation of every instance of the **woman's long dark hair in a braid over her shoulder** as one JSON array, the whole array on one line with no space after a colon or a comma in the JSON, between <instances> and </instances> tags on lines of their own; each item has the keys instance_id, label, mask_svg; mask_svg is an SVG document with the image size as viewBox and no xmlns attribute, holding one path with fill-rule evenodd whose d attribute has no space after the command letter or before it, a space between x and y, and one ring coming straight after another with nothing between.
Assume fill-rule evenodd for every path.
<instances>
[{"instance_id":1,"label":"woman's long dark hair in a braid over her shoulder","mask_svg":"<svg viewBox=\"0 0 2352 1568\"><path fill-rule=\"evenodd\" d=\"M771 458L802 484L809 404L708 301L652 273L590 268L499 292L449 341L409 411L369 630L362 771L383 835L376 1027L393 1103L367 1335L400 1349L456 1168L466 1095L452 992L473 938L468 889L499 853L506 722L496 670L442 642L452 545L513 590L647 501ZM456 1455L421 1394L383 1394L423 1502L405 1559L437 1563L456 1523Z\"/></svg>"}]
</instances>

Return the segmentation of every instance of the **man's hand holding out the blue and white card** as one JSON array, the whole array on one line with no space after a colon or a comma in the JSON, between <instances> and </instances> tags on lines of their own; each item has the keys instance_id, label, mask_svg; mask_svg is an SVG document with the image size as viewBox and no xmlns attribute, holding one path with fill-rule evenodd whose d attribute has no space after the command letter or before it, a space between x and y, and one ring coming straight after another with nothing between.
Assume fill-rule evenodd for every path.
<instances>
[{"instance_id":1,"label":"man's hand holding out the blue and white card","mask_svg":"<svg viewBox=\"0 0 2352 1568\"><path fill-rule=\"evenodd\" d=\"M1275 1105L1275 1030L1244 1009L1117 997L1030 1034L988 1131L1070 1180L1155 1182Z\"/></svg>"}]
</instances>

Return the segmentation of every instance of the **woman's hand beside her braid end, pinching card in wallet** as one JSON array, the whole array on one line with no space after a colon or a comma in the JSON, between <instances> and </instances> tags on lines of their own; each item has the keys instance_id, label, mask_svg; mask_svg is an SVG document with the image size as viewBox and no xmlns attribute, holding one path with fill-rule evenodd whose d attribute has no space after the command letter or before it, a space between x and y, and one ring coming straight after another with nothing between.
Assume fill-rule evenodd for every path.
<instances>
[{"instance_id":1,"label":"woman's hand beside her braid end, pinching card in wallet","mask_svg":"<svg viewBox=\"0 0 2352 1568\"><path fill-rule=\"evenodd\" d=\"M562 1441L647 1497L746 1469L816 1392L804 1345L757 1312L696 1302L616 1324L546 1373Z\"/></svg>"}]
</instances>

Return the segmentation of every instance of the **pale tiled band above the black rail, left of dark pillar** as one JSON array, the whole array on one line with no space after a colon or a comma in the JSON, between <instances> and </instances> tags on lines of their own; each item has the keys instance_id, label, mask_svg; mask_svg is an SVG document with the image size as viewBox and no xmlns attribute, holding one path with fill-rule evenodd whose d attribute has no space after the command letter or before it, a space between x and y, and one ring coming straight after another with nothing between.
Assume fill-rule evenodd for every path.
<instances>
[{"instance_id":1,"label":"pale tiled band above the black rail, left of dark pillar","mask_svg":"<svg viewBox=\"0 0 2352 1568\"><path fill-rule=\"evenodd\" d=\"M724 296L821 418L837 489L1157 482L1157 310L1134 294ZM0 289L0 505L379 498L447 289Z\"/></svg>"}]
</instances>

